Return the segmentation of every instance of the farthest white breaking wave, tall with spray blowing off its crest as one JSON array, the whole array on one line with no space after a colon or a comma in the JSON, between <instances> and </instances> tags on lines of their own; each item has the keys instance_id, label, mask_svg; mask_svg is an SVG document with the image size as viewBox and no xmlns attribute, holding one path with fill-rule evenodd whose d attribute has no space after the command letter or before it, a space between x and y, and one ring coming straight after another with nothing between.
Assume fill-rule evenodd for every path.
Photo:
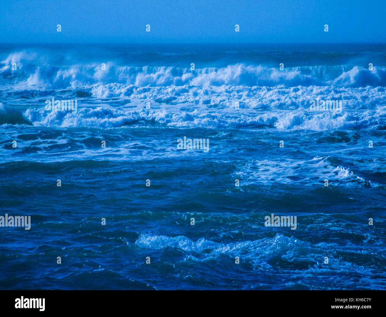
<instances>
[{"instance_id":1,"label":"farthest white breaking wave, tall with spray blowing off its crest","mask_svg":"<svg viewBox=\"0 0 386 317\"><path fill-rule=\"evenodd\" d=\"M16 64L17 69L12 70ZM190 70L179 67L134 67L105 63L77 64L68 66L51 65L47 57L37 53L20 51L11 53L2 61L0 76L17 77L19 88L66 89L88 84L121 83L136 87L165 86L334 86L334 87L385 87L386 69L346 65L302 66L270 68L264 65L237 63L223 68ZM22 79L20 81L20 79Z\"/></svg>"}]
</instances>

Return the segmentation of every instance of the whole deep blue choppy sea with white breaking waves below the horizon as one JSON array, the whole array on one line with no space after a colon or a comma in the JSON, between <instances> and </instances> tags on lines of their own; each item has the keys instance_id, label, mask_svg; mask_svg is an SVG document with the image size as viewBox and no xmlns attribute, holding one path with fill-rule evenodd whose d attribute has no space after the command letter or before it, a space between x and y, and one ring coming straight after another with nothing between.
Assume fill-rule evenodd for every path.
<instances>
[{"instance_id":1,"label":"whole deep blue choppy sea with white breaking waves below the horizon","mask_svg":"<svg viewBox=\"0 0 386 317\"><path fill-rule=\"evenodd\" d=\"M31 216L0 227L1 289L386 289L386 45L0 45L0 61L0 216Z\"/></svg>"}]
</instances>

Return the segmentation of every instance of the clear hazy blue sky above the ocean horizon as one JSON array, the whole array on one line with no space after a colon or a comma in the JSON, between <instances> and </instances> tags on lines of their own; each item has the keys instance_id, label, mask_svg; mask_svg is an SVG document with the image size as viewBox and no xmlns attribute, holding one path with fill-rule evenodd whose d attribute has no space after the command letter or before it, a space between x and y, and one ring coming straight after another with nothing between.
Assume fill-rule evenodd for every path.
<instances>
[{"instance_id":1,"label":"clear hazy blue sky above the ocean horizon","mask_svg":"<svg viewBox=\"0 0 386 317\"><path fill-rule=\"evenodd\" d=\"M0 43L386 42L384 0L0 0L0 6Z\"/></svg>"}]
</instances>

